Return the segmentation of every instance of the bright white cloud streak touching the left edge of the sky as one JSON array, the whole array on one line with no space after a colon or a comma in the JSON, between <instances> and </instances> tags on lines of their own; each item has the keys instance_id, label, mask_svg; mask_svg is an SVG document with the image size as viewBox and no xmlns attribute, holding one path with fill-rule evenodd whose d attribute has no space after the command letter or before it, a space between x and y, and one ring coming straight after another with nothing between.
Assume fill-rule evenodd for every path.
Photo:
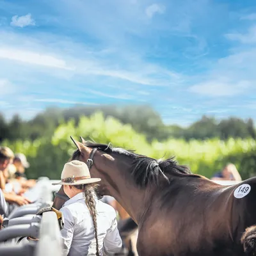
<instances>
[{"instance_id":1,"label":"bright white cloud streak touching the left edge of the sky","mask_svg":"<svg viewBox=\"0 0 256 256\"><path fill-rule=\"evenodd\" d=\"M0 47L0 58L22 61L29 64L43 65L47 67L63 68L73 70L74 68L67 67L67 63L60 58L53 57L47 53L38 53L33 51L25 51L17 48Z\"/></svg>"}]
</instances>

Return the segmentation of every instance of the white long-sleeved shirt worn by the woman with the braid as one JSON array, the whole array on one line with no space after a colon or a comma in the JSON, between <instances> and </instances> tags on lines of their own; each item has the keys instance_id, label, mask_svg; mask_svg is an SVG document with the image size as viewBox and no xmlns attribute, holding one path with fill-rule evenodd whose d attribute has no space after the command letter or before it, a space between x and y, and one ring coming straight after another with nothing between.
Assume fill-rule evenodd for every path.
<instances>
[{"instance_id":1,"label":"white long-sleeved shirt worn by the woman with the braid","mask_svg":"<svg viewBox=\"0 0 256 256\"><path fill-rule=\"evenodd\" d=\"M113 207L94 197L97 212L99 252L114 255L122 248L122 239L117 229L116 212ZM61 239L63 255L96 255L95 232L90 211L83 193L70 198L60 211L64 217Z\"/></svg>"}]
</instances>

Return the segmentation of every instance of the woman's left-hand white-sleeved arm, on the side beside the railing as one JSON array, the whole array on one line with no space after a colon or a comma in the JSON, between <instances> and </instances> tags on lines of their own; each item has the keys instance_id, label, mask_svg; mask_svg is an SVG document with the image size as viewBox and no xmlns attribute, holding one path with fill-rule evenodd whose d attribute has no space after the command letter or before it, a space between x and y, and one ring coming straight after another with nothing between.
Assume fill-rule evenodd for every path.
<instances>
[{"instance_id":1,"label":"woman's left-hand white-sleeved arm, on the side beside the railing","mask_svg":"<svg viewBox=\"0 0 256 256\"><path fill-rule=\"evenodd\" d=\"M74 218L71 212L67 209L67 207L63 207L60 209L64 217L64 225L61 229L61 240L63 243L63 253L62 255L68 255L70 250L70 246L72 243L72 239L74 236Z\"/></svg>"}]
</instances>

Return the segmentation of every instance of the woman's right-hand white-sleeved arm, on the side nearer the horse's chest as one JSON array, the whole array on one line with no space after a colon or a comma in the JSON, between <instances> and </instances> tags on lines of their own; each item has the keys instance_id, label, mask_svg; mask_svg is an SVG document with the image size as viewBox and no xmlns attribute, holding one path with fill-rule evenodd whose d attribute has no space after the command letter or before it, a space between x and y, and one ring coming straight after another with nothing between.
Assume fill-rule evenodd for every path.
<instances>
[{"instance_id":1,"label":"woman's right-hand white-sleeved arm, on the side nearer the horse's chest","mask_svg":"<svg viewBox=\"0 0 256 256\"><path fill-rule=\"evenodd\" d=\"M111 227L107 230L106 237L104 238L103 249L106 255L113 255L122 250L122 239L120 237L117 221L116 221L116 213L115 217L112 221Z\"/></svg>"}]
</instances>

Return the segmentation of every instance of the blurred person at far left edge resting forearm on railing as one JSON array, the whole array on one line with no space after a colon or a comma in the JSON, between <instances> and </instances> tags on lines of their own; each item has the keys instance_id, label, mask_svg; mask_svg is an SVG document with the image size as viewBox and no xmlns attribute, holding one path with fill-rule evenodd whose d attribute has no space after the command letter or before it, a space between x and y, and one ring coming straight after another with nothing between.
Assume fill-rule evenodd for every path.
<instances>
[{"instance_id":1,"label":"blurred person at far left edge resting forearm on railing","mask_svg":"<svg viewBox=\"0 0 256 256\"><path fill-rule=\"evenodd\" d=\"M0 147L0 189L3 191L4 198L9 204L30 204L31 202L28 200L28 198L15 195L15 193L10 193L5 189L6 171L8 170L10 164L12 164L13 158L14 154L10 148Z\"/></svg>"}]
</instances>

